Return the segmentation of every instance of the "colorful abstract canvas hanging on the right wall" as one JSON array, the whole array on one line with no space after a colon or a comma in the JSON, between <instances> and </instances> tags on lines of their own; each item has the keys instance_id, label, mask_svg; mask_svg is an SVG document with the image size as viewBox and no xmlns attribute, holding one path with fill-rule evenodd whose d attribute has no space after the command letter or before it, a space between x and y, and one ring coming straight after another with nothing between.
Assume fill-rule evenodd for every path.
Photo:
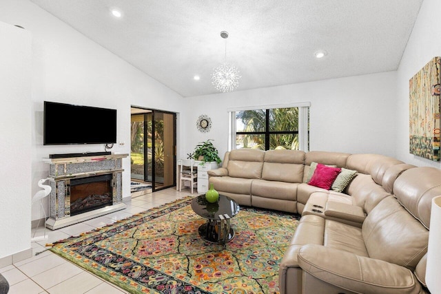
<instances>
[{"instance_id":1,"label":"colorful abstract canvas hanging on the right wall","mask_svg":"<svg viewBox=\"0 0 441 294\"><path fill-rule=\"evenodd\" d=\"M440 65L435 57L409 81L410 153L440 160Z\"/></svg>"}]
</instances>

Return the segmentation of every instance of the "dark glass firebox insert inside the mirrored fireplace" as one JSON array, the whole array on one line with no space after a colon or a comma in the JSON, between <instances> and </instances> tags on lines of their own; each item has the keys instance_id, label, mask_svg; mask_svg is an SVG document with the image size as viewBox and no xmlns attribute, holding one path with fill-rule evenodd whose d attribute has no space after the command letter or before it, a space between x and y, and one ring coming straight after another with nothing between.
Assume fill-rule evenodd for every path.
<instances>
[{"instance_id":1,"label":"dark glass firebox insert inside the mirrored fireplace","mask_svg":"<svg viewBox=\"0 0 441 294\"><path fill-rule=\"evenodd\" d=\"M112 205L112 174L70 180L70 215Z\"/></svg>"}]
</instances>

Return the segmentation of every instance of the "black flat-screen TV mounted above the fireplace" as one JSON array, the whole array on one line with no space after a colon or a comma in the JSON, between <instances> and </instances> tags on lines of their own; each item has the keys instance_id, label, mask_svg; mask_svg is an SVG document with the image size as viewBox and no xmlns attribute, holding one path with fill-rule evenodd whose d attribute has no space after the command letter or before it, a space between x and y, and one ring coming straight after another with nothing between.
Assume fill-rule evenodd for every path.
<instances>
[{"instance_id":1,"label":"black flat-screen TV mounted above the fireplace","mask_svg":"<svg viewBox=\"0 0 441 294\"><path fill-rule=\"evenodd\" d=\"M44 101L43 145L116 143L116 109Z\"/></svg>"}]
</instances>

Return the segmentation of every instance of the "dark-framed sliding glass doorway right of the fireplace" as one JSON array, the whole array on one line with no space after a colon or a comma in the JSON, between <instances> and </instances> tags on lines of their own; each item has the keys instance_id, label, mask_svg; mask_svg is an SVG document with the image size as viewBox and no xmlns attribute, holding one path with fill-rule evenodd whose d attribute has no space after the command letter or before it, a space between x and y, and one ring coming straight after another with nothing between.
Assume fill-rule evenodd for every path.
<instances>
[{"instance_id":1,"label":"dark-framed sliding glass doorway right of the fireplace","mask_svg":"<svg viewBox=\"0 0 441 294\"><path fill-rule=\"evenodd\" d=\"M176 114L132 106L132 197L176 185Z\"/></svg>"}]
</instances>

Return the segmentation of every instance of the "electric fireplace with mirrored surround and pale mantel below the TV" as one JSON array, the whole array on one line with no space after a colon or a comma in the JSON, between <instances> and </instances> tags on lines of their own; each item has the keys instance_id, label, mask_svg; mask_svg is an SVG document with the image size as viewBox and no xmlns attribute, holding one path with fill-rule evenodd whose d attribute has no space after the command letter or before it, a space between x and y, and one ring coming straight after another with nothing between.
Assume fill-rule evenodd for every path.
<instances>
[{"instance_id":1,"label":"electric fireplace with mirrored surround and pale mantel below the TV","mask_svg":"<svg viewBox=\"0 0 441 294\"><path fill-rule=\"evenodd\" d=\"M125 209L123 158L108 154L48 158L49 218L46 227L60 229L107 213Z\"/></svg>"}]
</instances>

